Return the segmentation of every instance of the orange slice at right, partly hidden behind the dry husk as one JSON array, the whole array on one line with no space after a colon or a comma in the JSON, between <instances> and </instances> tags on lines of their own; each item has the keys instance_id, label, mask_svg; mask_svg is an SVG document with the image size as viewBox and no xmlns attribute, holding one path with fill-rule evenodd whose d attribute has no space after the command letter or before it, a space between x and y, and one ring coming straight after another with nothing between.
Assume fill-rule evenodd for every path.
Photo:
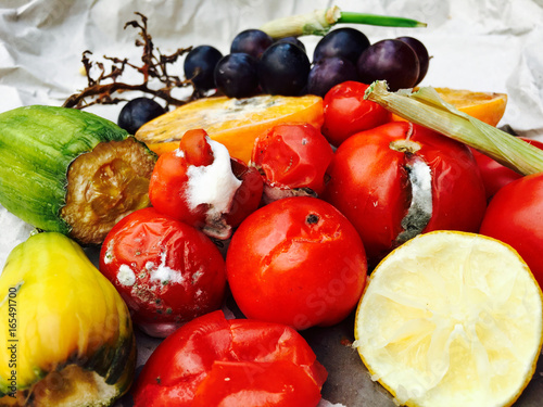
<instances>
[{"instance_id":1,"label":"orange slice at right, partly hidden behind the dry husk","mask_svg":"<svg viewBox=\"0 0 543 407\"><path fill-rule=\"evenodd\" d=\"M507 105L507 94L505 93L451 88L434 89L445 102L491 126L496 126L500 123ZM403 120L395 115L393 118Z\"/></svg>"}]
</instances>

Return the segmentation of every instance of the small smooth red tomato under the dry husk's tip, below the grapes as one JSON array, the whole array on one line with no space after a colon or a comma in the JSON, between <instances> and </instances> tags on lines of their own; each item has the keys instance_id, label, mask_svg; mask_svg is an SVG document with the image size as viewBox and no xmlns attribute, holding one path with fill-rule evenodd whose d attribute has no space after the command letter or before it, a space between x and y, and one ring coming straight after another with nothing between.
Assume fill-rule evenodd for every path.
<instances>
[{"instance_id":1,"label":"small smooth red tomato under the dry husk's tip, below the grapes","mask_svg":"<svg viewBox=\"0 0 543 407\"><path fill-rule=\"evenodd\" d=\"M323 135L339 147L349 136L390 122L391 114L376 102L364 100L368 85L348 80L325 96Z\"/></svg>"}]
</instances>

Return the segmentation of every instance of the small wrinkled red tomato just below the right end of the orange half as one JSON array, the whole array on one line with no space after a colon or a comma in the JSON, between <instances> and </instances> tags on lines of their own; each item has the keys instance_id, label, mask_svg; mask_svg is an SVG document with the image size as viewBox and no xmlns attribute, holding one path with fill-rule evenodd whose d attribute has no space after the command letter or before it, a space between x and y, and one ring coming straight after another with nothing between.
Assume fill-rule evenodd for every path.
<instances>
[{"instance_id":1,"label":"small wrinkled red tomato just below the right end of the orange half","mask_svg":"<svg viewBox=\"0 0 543 407\"><path fill-rule=\"evenodd\" d=\"M264 201L289 195L318 195L333 151L326 138L308 124L282 124L258 137L251 165L263 174Z\"/></svg>"}]
</instances>

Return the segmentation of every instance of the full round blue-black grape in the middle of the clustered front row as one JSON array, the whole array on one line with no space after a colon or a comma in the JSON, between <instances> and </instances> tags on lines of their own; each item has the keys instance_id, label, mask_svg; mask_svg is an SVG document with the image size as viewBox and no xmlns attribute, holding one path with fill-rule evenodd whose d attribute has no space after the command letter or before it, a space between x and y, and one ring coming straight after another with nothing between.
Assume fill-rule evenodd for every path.
<instances>
[{"instance_id":1,"label":"full round blue-black grape in the middle of the clustered front row","mask_svg":"<svg viewBox=\"0 0 543 407\"><path fill-rule=\"evenodd\" d=\"M265 93L299 96L307 85L310 59L298 46L276 42L258 61L258 81Z\"/></svg>"}]
</instances>

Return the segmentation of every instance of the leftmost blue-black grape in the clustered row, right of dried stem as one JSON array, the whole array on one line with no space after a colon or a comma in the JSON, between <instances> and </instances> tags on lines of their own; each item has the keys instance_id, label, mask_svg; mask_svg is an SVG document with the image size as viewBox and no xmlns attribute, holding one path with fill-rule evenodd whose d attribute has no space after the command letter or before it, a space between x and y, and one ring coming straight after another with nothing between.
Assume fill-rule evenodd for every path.
<instances>
[{"instance_id":1,"label":"leftmost blue-black grape in the clustered row, right of dried stem","mask_svg":"<svg viewBox=\"0 0 543 407\"><path fill-rule=\"evenodd\" d=\"M185 58L185 77L192 79L198 89L213 89L215 87L213 73L222 58L220 51L214 47L199 46L193 48Z\"/></svg>"}]
</instances>

